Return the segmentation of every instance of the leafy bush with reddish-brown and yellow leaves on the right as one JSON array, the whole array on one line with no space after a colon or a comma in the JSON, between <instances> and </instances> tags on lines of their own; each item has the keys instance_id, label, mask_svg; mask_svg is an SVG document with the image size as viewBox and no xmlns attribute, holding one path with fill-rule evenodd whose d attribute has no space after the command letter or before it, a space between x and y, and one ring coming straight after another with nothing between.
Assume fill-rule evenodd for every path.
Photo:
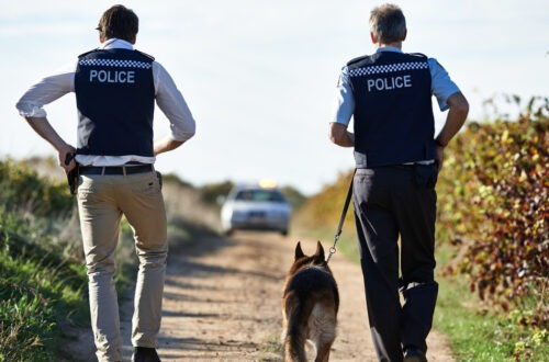
<instances>
[{"instance_id":1,"label":"leafy bush with reddish-brown and yellow leaves on the right","mask_svg":"<svg viewBox=\"0 0 549 362\"><path fill-rule=\"evenodd\" d=\"M438 236L457 247L447 271L470 276L481 299L547 328L549 103L533 98L516 121L470 123L446 151Z\"/></svg>"}]
</instances>

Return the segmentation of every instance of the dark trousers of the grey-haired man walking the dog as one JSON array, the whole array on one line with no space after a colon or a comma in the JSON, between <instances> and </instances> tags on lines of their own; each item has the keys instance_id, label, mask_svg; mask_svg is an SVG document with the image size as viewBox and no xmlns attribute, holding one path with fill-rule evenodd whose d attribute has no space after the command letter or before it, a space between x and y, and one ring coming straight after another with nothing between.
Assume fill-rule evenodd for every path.
<instances>
[{"instance_id":1,"label":"dark trousers of the grey-haired man walking the dog","mask_svg":"<svg viewBox=\"0 0 549 362\"><path fill-rule=\"evenodd\" d=\"M436 165L358 169L355 174L368 318L380 361L402 361L403 348L408 346L427 350L425 340L438 293L434 279L436 178Z\"/></svg>"}]
</instances>

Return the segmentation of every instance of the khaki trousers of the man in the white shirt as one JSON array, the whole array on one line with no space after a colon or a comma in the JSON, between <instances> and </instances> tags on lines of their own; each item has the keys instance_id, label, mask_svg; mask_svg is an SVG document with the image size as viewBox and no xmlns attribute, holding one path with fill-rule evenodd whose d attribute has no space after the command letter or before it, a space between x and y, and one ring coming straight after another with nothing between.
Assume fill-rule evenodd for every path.
<instances>
[{"instance_id":1,"label":"khaki trousers of the man in the white shirt","mask_svg":"<svg viewBox=\"0 0 549 362\"><path fill-rule=\"evenodd\" d=\"M166 272L167 220L156 173L80 176L78 208L88 268L91 326L99 361L122 361L113 274L120 222L131 225L139 270L132 344L156 347Z\"/></svg>"}]
</instances>

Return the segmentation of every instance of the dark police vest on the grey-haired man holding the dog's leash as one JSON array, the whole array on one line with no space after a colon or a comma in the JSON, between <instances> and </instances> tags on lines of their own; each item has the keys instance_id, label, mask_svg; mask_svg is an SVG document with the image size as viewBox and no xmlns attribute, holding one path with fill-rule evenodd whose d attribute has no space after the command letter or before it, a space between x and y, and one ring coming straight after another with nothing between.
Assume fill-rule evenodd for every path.
<instances>
[{"instance_id":1,"label":"dark police vest on the grey-haired man holding the dog's leash","mask_svg":"<svg viewBox=\"0 0 549 362\"><path fill-rule=\"evenodd\" d=\"M347 64L355 98L357 168L436 157L427 57L380 52Z\"/></svg>"}]
</instances>

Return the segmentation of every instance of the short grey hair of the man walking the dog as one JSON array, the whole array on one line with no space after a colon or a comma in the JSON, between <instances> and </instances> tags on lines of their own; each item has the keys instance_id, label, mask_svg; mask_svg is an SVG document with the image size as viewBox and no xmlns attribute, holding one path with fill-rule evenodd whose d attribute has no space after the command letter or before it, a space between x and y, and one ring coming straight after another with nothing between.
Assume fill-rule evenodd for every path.
<instances>
[{"instance_id":1,"label":"short grey hair of the man walking the dog","mask_svg":"<svg viewBox=\"0 0 549 362\"><path fill-rule=\"evenodd\" d=\"M370 13L370 31L381 44L402 42L406 37L406 19L401 8L386 3Z\"/></svg>"}]
</instances>

